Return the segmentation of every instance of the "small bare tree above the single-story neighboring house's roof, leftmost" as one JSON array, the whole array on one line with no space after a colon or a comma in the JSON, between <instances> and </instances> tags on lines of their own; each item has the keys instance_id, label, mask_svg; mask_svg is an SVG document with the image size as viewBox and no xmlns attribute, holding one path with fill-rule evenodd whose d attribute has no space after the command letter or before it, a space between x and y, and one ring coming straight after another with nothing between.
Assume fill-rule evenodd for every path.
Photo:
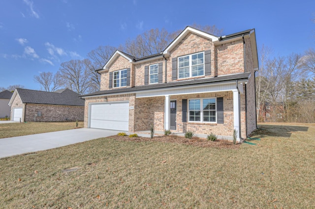
<instances>
[{"instance_id":1,"label":"small bare tree above the single-story neighboring house's roof, leftmost","mask_svg":"<svg viewBox=\"0 0 315 209\"><path fill-rule=\"evenodd\" d=\"M63 86L63 79L59 71L55 75L52 72L41 72L34 76L34 81L40 84L45 91L55 91Z\"/></svg>"}]
</instances>

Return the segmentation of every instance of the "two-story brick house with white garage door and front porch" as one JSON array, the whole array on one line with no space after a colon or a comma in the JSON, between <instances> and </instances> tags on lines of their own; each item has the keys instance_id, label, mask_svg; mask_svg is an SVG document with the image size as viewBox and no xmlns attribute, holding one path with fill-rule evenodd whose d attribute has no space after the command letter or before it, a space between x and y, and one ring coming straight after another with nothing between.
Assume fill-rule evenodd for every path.
<instances>
[{"instance_id":1,"label":"two-story brick house with white garage door and front porch","mask_svg":"<svg viewBox=\"0 0 315 209\"><path fill-rule=\"evenodd\" d=\"M85 94L84 127L122 131L194 131L237 139L256 129L255 31L226 36L187 27L160 54L116 51Z\"/></svg>"}]
</instances>

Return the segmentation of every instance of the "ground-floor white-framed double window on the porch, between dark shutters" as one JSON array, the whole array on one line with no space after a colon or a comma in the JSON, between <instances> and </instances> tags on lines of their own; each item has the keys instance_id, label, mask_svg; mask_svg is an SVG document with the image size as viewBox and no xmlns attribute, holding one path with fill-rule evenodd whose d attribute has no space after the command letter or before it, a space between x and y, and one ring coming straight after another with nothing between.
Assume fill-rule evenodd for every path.
<instances>
[{"instance_id":1,"label":"ground-floor white-framed double window on the porch, between dark shutters","mask_svg":"<svg viewBox=\"0 0 315 209\"><path fill-rule=\"evenodd\" d=\"M215 98L189 99L189 122L216 122L216 107Z\"/></svg>"}]
</instances>

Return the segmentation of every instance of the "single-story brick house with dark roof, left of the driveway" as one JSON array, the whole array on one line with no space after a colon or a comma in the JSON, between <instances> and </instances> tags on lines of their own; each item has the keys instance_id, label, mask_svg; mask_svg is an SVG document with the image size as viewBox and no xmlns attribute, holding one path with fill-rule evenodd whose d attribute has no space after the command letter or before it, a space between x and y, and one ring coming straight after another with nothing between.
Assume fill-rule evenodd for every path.
<instances>
[{"instance_id":1,"label":"single-story brick house with dark roof, left of the driveway","mask_svg":"<svg viewBox=\"0 0 315 209\"><path fill-rule=\"evenodd\" d=\"M69 90L54 92L16 89L9 101L14 121L74 121L84 119L84 99Z\"/></svg>"}]
</instances>

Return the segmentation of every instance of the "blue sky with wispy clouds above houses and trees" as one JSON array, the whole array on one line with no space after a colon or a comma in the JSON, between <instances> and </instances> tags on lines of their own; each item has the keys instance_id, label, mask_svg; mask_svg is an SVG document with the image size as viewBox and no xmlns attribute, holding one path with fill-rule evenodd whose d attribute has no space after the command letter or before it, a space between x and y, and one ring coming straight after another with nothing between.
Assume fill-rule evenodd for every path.
<instances>
[{"instance_id":1,"label":"blue sky with wispy clouds above houses and trees","mask_svg":"<svg viewBox=\"0 0 315 209\"><path fill-rule=\"evenodd\" d=\"M145 30L216 25L254 28L276 56L315 47L315 0L0 0L0 87L40 90L33 76L57 72L99 45L119 46Z\"/></svg>"}]
</instances>

